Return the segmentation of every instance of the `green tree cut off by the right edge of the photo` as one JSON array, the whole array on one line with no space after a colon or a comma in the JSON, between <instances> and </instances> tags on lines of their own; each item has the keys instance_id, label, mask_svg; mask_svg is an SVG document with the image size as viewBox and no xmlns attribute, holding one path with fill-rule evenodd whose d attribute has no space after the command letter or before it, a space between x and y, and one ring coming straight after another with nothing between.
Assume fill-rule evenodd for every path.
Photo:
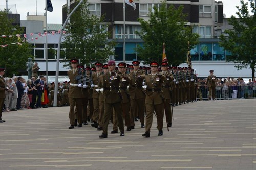
<instances>
[{"instance_id":1,"label":"green tree cut off by the right edge of the photo","mask_svg":"<svg viewBox=\"0 0 256 170\"><path fill-rule=\"evenodd\" d=\"M220 45L232 53L232 56L227 57L227 61L232 61L237 65L234 66L238 70L242 68L250 68L251 76L255 77L255 62L256 62L256 5L255 0L249 1L252 15L248 11L248 3L240 1L241 8L237 6L238 18L231 16L228 19L231 30L225 30L228 37L220 36L222 42Z\"/></svg>"}]
</instances>

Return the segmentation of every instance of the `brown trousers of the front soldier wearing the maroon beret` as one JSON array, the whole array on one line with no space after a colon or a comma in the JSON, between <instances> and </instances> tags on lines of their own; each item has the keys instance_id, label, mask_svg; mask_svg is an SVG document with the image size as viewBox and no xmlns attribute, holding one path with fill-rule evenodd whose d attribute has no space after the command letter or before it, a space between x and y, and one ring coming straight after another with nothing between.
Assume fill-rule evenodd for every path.
<instances>
[{"instance_id":1,"label":"brown trousers of the front soldier wearing the maroon beret","mask_svg":"<svg viewBox=\"0 0 256 170\"><path fill-rule=\"evenodd\" d=\"M102 134L108 134L108 125L111 117L111 109L114 109L115 116L117 116L118 126L120 132L124 132L123 116L121 111L121 101L117 103L104 103L104 116L103 116L103 132Z\"/></svg>"}]
</instances>

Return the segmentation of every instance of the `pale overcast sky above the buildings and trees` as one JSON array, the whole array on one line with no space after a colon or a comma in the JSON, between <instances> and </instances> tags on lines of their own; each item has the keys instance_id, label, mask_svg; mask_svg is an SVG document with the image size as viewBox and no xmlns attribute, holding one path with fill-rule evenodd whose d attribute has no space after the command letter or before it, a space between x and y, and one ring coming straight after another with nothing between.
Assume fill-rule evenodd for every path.
<instances>
[{"instance_id":1,"label":"pale overcast sky above the buildings and trees","mask_svg":"<svg viewBox=\"0 0 256 170\"><path fill-rule=\"evenodd\" d=\"M236 12L238 11L236 6L241 6L240 0L217 1L223 2L224 14L226 15L226 18L229 18L231 15L236 16ZM62 24L62 6L67 3L67 0L51 0L51 2L53 12L47 12L47 22ZM244 2L248 2L248 0L244 0ZM0 0L0 10L4 10L5 8L6 0ZM45 0L8 0L8 8L10 8L12 13L19 13L20 20L26 20L28 12L35 14L37 11L37 15L44 15Z\"/></svg>"}]
</instances>

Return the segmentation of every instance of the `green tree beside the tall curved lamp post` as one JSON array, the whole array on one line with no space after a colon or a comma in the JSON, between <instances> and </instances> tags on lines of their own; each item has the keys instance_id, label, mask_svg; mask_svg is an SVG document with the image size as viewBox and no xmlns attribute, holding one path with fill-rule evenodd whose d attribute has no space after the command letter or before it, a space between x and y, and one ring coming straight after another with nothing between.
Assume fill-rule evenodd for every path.
<instances>
[{"instance_id":1,"label":"green tree beside the tall curved lamp post","mask_svg":"<svg viewBox=\"0 0 256 170\"><path fill-rule=\"evenodd\" d=\"M87 1L79 6L67 25L68 35L63 42L66 59L77 58L81 64L89 65L96 61L104 63L114 54L114 42L108 42L108 25L103 21L104 17L90 15Z\"/></svg>"}]
</instances>

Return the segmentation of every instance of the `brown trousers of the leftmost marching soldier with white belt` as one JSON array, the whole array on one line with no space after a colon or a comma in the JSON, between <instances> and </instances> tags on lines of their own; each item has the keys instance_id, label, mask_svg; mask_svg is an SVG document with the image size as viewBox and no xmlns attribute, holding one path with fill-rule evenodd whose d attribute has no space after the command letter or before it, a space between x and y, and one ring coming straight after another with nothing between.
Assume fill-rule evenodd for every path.
<instances>
[{"instance_id":1,"label":"brown trousers of the leftmost marching soldier with white belt","mask_svg":"<svg viewBox=\"0 0 256 170\"><path fill-rule=\"evenodd\" d=\"M69 98L70 110L69 110L69 122L70 125L75 123L75 106L77 108L77 122L82 123L82 99L83 98Z\"/></svg>"}]
</instances>

